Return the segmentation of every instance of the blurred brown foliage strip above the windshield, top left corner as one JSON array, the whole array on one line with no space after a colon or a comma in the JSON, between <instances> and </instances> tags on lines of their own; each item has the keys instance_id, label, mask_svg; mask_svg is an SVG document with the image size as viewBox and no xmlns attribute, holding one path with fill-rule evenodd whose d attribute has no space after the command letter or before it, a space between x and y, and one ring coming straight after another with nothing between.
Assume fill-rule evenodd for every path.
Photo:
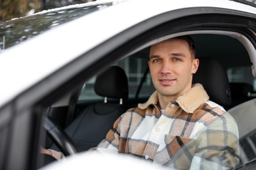
<instances>
[{"instance_id":1,"label":"blurred brown foliage strip above the windshield, top left corner","mask_svg":"<svg viewBox=\"0 0 256 170\"><path fill-rule=\"evenodd\" d=\"M0 0L0 22L27 16L41 10L91 1L95 0Z\"/></svg>"}]
</instances>

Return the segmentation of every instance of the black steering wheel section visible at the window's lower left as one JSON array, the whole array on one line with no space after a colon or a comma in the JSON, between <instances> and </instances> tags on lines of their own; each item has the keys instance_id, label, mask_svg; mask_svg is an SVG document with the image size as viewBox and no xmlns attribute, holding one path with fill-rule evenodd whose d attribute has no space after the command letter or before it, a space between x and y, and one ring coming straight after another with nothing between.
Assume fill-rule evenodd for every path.
<instances>
[{"instance_id":1,"label":"black steering wheel section visible at the window's lower left","mask_svg":"<svg viewBox=\"0 0 256 170\"><path fill-rule=\"evenodd\" d=\"M44 127L53 142L60 148L65 156L77 153L77 148L67 133L47 116L45 116Z\"/></svg>"}]
</instances>

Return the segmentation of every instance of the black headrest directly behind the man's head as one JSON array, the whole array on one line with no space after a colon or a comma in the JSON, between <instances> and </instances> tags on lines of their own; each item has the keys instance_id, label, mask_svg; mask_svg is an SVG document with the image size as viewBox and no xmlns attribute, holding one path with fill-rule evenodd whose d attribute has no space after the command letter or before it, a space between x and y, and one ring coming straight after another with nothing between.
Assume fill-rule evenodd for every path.
<instances>
[{"instance_id":1,"label":"black headrest directly behind the man's head","mask_svg":"<svg viewBox=\"0 0 256 170\"><path fill-rule=\"evenodd\" d=\"M210 100L219 105L231 105L228 75L223 65L213 58L199 58L200 66L193 75L193 84L200 83Z\"/></svg>"}]
</instances>

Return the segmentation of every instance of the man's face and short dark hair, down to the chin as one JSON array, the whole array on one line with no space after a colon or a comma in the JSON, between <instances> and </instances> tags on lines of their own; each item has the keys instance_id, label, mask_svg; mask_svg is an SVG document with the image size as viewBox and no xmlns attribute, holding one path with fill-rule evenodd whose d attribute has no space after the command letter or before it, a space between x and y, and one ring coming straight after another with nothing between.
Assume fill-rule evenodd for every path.
<instances>
[{"instance_id":1,"label":"man's face and short dark hair, down to the chin","mask_svg":"<svg viewBox=\"0 0 256 170\"><path fill-rule=\"evenodd\" d=\"M148 66L152 82L161 96L175 100L188 91L198 65L198 59L192 58L188 42L184 40L169 39L150 48Z\"/></svg>"}]
</instances>

